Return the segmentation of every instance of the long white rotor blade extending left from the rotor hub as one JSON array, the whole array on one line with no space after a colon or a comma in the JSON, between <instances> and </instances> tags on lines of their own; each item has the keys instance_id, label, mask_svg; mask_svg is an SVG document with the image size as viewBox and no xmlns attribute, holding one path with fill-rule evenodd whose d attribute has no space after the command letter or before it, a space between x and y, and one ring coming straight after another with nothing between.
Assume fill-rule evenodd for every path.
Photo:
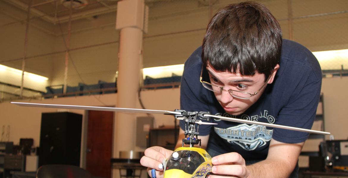
<instances>
[{"instance_id":1,"label":"long white rotor blade extending left from the rotor hub","mask_svg":"<svg viewBox=\"0 0 348 178\"><path fill-rule=\"evenodd\" d=\"M40 107L40 108L84 109L84 110L94 110L94 111L133 112L133 113L151 113L151 114L181 114L181 112L175 112L175 111L149 110L149 109L110 108L110 107L21 103L21 102L11 102L11 103L17 104L19 106Z\"/></svg>"}]
</instances>

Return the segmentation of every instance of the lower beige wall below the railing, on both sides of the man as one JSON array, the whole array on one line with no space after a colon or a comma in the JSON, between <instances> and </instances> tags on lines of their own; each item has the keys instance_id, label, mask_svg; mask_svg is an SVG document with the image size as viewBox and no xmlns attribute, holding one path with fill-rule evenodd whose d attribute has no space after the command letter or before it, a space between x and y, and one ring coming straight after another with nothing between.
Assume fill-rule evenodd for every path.
<instances>
[{"instance_id":1,"label":"lower beige wall below the railing, on both sides of the man","mask_svg":"<svg viewBox=\"0 0 348 178\"><path fill-rule=\"evenodd\" d=\"M331 132L336 139L347 139L348 132L346 125L348 93L348 77L324 78L322 93L324 94L324 118L325 130ZM141 99L145 109L174 110L179 109L179 88L148 90L141 93ZM46 100L31 100L27 102L47 104L70 104L90 106L116 106L117 94L90 95ZM102 101L106 105L103 105ZM26 101L23 101L26 102ZM138 103L137 108L140 108ZM40 121L42 112L56 112L57 109L18 107L11 103L0 103L0 126L10 126L9 141L19 143L19 138L34 138L34 145L39 146ZM82 110L70 110L71 112L85 115ZM145 115L139 115L145 116ZM154 126L174 125L172 116L153 115ZM85 120L85 118L84 118ZM135 127L135 126L134 126ZM129 131L126 131L129 132ZM83 133L83 137L85 137ZM141 149L141 148L138 148Z\"/></svg>"}]
</instances>

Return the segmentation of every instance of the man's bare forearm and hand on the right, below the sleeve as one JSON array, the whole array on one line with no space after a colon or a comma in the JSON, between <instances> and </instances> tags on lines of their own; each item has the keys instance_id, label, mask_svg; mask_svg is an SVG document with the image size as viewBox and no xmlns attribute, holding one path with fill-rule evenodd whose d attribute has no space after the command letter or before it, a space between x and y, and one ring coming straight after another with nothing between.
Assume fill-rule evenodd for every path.
<instances>
[{"instance_id":1,"label":"man's bare forearm and hand on the right, below the sleeve","mask_svg":"<svg viewBox=\"0 0 348 178\"><path fill-rule=\"evenodd\" d=\"M287 178L296 166L303 143L287 144L271 139L266 160L245 167L245 161L238 153L226 153L212 158L216 165L212 170L215 174L237 177Z\"/></svg>"}]
</instances>

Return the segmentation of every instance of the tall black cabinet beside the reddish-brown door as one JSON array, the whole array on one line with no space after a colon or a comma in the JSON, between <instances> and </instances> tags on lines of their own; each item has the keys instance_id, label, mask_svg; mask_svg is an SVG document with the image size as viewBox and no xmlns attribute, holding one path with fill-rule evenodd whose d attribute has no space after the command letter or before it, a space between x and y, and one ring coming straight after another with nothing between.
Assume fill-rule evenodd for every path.
<instances>
[{"instance_id":1,"label":"tall black cabinet beside the reddish-brown door","mask_svg":"<svg viewBox=\"0 0 348 178\"><path fill-rule=\"evenodd\" d=\"M39 167L46 164L80 166L82 115L42 113Z\"/></svg>"}]
</instances>

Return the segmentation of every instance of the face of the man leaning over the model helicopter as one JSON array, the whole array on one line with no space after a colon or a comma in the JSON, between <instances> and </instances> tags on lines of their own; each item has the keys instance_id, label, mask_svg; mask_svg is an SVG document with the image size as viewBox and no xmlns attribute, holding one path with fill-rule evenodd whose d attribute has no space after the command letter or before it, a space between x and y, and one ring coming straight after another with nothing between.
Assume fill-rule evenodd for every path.
<instances>
[{"instance_id":1,"label":"face of the man leaning over the model helicopter","mask_svg":"<svg viewBox=\"0 0 348 178\"><path fill-rule=\"evenodd\" d=\"M278 68L279 65L275 67L275 70L271 74L271 78L268 80L267 84L273 82ZM234 74L229 71L217 71L209 64L206 69L211 84L221 86L224 90L232 89L254 94L265 82L264 74L259 74L257 71L252 76L242 76L238 72ZM266 85L261 88L258 94L252 96L250 99L235 98L227 91L222 91L220 93L214 92L214 94L217 101L219 101L220 105L227 113L230 115L240 115L260 98L265 88Z\"/></svg>"}]
</instances>

